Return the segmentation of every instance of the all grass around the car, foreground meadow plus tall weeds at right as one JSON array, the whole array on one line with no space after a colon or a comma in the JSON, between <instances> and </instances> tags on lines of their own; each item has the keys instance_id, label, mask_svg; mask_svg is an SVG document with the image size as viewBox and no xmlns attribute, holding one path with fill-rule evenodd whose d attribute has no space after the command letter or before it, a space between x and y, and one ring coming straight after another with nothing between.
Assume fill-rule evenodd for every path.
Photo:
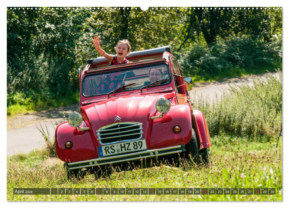
<instances>
[{"instance_id":1,"label":"all grass around the car, foreground meadow plus tall weeds at right","mask_svg":"<svg viewBox=\"0 0 289 208\"><path fill-rule=\"evenodd\" d=\"M282 201L282 73L199 101L211 133L210 166L181 162L68 180L47 151L7 157L7 201ZM51 149L51 145L50 145ZM49 151L51 153L51 151ZM133 167L133 164L131 164ZM276 188L275 195L14 195L13 188Z\"/></svg>"}]
</instances>

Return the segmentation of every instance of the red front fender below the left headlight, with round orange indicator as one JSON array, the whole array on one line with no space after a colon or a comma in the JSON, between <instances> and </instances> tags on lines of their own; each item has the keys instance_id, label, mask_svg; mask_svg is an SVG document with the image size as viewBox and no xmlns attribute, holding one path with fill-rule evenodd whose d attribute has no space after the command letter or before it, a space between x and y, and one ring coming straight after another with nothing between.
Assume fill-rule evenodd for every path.
<instances>
[{"instance_id":1,"label":"red front fender below the left headlight, with round orange indicator","mask_svg":"<svg viewBox=\"0 0 289 208\"><path fill-rule=\"evenodd\" d=\"M79 127L89 127L86 122L82 122ZM64 162L76 162L97 158L96 147L93 144L90 130L79 131L68 122L62 123L55 130L55 148L57 156ZM65 142L71 141L72 148L66 149Z\"/></svg>"}]
</instances>

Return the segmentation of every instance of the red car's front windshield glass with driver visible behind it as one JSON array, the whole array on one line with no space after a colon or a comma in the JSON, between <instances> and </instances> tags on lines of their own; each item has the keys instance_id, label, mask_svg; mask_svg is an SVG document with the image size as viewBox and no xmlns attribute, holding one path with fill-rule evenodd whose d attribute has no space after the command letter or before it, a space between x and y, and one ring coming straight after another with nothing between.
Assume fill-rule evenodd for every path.
<instances>
[{"instance_id":1,"label":"red car's front windshield glass with driver visible behind it","mask_svg":"<svg viewBox=\"0 0 289 208\"><path fill-rule=\"evenodd\" d=\"M116 92L140 89L143 86L161 79L169 80L167 82L161 82L159 85L166 85L171 81L171 76L167 64L130 68L127 70L106 73L99 72L93 75L88 75L84 78L82 93L86 97L99 94L107 94L131 83L135 84L124 87L123 89L117 90ZM152 87L156 86L154 85Z\"/></svg>"}]
</instances>

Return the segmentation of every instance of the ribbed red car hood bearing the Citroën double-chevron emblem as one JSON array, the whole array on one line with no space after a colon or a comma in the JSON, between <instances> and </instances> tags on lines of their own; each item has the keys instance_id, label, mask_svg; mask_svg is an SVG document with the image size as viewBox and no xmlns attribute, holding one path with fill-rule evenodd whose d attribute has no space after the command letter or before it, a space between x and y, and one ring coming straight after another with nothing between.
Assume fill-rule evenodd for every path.
<instances>
[{"instance_id":1,"label":"ribbed red car hood bearing the Citro\u00ebn double-chevron emblem","mask_svg":"<svg viewBox=\"0 0 289 208\"><path fill-rule=\"evenodd\" d=\"M109 97L98 103L81 108L84 120L89 122L95 132L100 127L117 122L140 122L148 125L149 118L156 113L155 103L160 98L175 97L174 93L131 94L121 97ZM171 99L172 100L172 99Z\"/></svg>"}]
</instances>

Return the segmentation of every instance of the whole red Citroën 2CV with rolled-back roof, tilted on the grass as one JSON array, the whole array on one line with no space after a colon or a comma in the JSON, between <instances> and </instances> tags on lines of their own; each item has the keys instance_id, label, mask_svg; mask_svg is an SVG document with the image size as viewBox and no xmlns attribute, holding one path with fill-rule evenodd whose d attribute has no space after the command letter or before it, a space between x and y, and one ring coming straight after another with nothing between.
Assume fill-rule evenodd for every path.
<instances>
[{"instance_id":1,"label":"whole red Citro\u00ebn 2CV with rolled-back roof, tilted on the grass","mask_svg":"<svg viewBox=\"0 0 289 208\"><path fill-rule=\"evenodd\" d=\"M106 166L180 155L210 163L204 115L193 109L188 85L170 46L132 52L131 65L88 59L79 70L79 112L57 126L55 145L68 177L99 176Z\"/></svg>"}]
</instances>

